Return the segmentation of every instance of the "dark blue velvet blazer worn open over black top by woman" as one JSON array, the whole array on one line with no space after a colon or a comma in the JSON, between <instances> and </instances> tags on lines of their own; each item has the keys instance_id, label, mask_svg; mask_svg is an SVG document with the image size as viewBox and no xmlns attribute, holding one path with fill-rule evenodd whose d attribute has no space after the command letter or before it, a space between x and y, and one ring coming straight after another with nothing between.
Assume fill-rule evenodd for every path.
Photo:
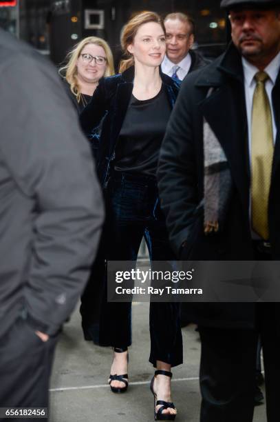
<instances>
[{"instance_id":1,"label":"dark blue velvet blazer worn open over black top by woman","mask_svg":"<svg viewBox=\"0 0 280 422\"><path fill-rule=\"evenodd\" d=\"M160 72L160 76L171 108L173 108L179 92L180 81L178 82L162 72ZM98 139L96 128L103 119L103 130L96 154L97 172L103 185L109 177L110 163L115 156L116 143L131 99L133 79L133 67L125 70L122 74L101 79L91 102L80 114L82 128L87 137L93 141Z\"/></svg>"}]
</instances>

